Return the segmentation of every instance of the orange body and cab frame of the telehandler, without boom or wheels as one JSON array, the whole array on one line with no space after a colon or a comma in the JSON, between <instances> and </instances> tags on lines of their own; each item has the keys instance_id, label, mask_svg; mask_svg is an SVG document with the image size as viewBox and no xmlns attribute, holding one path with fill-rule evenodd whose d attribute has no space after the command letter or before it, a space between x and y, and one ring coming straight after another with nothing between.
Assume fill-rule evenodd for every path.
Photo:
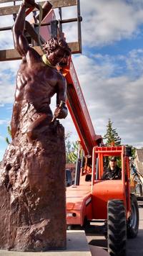
<instances>
[{"instance_id":1,"label":"orange body and cab frame of the telehandler, without boom or wheels","mask_svg":"<svg viewBox=\"0 0 143 256\"><path fill-rule=\"evenodd\" d=\"M113 155L121 157L122 178L121 180L102 180L104 157ZM92 181L86 181L86 175L89 175L89 173L81 172L79 186L66 188L67 224L80 224L82 226L85 219L89 221L93 219L107 219L107 203L112 199L124 201L128 219L131 213L129 200L129 157L125 156L125 147L94 147L92 155Z\"/></svg>"}]
</instances>

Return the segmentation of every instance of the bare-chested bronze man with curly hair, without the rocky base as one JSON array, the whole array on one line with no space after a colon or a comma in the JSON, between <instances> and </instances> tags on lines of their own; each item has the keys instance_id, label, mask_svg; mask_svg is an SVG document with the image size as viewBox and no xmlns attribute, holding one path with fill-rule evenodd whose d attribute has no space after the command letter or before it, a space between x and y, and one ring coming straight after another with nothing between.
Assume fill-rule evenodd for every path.
<instances>
[{"instance_id":1,"label":"bare-chested bronze man with curly hair, without the rocky base","mask_svg":"<svg viewBox=\"0 0 143 256\"><path fill-rule=\"evenodd\" d=\"M49 104L56 93L55 118L63 119L67 115L66 109L66 81L64 76L56 70L56 65L70 55L71 50L65 40L52 38L44 44L45 55L41 56L29 46L24 36L24 22L26 8L34 6L34 0L24 0L13 28L14 45L22 57L22 62L16 78L15 102L11 122L12 139L19 127L19 114L26 104L31 104L36 110L32 113L32 120L26 127L29 138L34 138L36 128L44 122L51 122L53 117ZM59 106L62 102L62 106ZM29 106L26 106L29 108ZM37 116L38 115L38 116ZM30 117L30 116L29 116ZM28 127L27 127L28 126Z\"/></svg>"}]
</instances>

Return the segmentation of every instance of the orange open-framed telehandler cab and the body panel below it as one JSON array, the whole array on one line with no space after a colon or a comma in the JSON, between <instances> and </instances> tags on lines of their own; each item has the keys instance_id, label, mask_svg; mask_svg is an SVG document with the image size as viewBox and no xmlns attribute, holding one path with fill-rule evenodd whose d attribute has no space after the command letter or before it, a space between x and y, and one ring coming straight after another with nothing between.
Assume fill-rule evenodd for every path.
<instances>
[{"instance_id":1,"label":"orange open-framed telehandler cab and the body panel below it","mask_svg":"<svg viewBox=\"0 0 143 256\"><path fill-rule=\"evenodd\" d=\"M124 146L94 147L92 155L92 201L94 219L107 219L107 203L124 201L129 215L129 156ZM119 175L110 173L110 160L115 159ZM118 172L117 172L118 173ZM107 174L107 175L106 175ZM97 207L98 206L98 207Z\"/></svg>"}]
</instances>

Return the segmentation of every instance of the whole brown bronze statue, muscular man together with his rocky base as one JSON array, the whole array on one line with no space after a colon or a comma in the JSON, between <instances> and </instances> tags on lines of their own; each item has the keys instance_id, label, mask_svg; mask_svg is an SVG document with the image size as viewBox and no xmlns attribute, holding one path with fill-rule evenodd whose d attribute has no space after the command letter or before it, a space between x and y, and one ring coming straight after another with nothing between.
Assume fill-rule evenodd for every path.
<instances>
[{"instance_id":1,"label":"whole brown bronze statue, muscular man together with his rocky base","mask_svg":"<svg viewBox=\"0 0 143 256\"><path fill-rule=\"evenodd\" d=\"M65 40L52 38L41 57L24 36L24 0L14 24L22 57L16 76L12 142L0 166L0 248L20 251L66 247L65 118L66 81L56 65L71 54ZM56 93L54 116L49 104ZM54 118L53 118L54 117Z\"/></svg>"}]
</instances>

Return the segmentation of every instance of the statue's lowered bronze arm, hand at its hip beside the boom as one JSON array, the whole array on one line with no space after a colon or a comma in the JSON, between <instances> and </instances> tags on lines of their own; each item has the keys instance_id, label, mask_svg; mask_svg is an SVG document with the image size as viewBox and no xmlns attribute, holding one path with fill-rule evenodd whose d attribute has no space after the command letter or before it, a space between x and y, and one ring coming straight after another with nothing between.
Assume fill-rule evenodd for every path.
<instances>
[{"instance_id":1,"label":"statue's lowered bronze arm, hand at its hip beside the boom","mask_svg":"<svg viewBox=\"0 0 143 256\"><path fill-rule=\"evenodd\" d=\"M62 106L60 104L62 103ZM58 119L66 118L68 114L66 107L66 79L61 76L58 82L58 87L56 91L56 109L54 111L54 116Z\"/></svg>"}]
</instances>

